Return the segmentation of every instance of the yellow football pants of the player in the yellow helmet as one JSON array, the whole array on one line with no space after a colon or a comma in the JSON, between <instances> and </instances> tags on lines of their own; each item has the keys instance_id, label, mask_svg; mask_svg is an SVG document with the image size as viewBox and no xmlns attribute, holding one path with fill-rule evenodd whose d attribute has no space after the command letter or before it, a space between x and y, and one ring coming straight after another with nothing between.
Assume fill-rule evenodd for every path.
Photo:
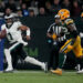
<instances>
[{"instance_id":1,"label":"yellow football pants of the player in the yellow helmet","mask_svg":"<svg viewBox=\"0 0 83 83\"><path fill-rule=\"evenodd\" d=\"M83 49L81 46L81 38L77 35L73 44L72 41L73 39L68 40L64 43L64 45L60 49L60 51L63 53L68 53L72 50L76 58L81 58L83 55Z\"/></svg>"}]
</instances>

